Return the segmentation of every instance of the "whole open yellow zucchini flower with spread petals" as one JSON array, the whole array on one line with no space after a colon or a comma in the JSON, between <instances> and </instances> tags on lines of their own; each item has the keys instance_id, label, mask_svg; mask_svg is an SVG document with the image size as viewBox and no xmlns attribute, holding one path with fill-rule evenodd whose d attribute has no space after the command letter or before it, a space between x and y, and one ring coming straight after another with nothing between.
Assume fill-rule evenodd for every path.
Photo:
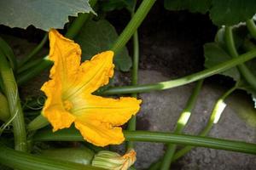
<instances>
[{"instance_id":1,"label":"whole open yellow zucchini flower with spread petals","mask_svg":"<svg viewBox=\"0 0 256 170\"><path fill-rule=\"evenodd\" d=\"M113 52L96 54L80 64L79 44L49 31L49 59L54 62L41 88L47 99L42 114L53 131L74 125L88 142L106 146L124 141L122 128L140 109L135 98L109 99L93 95L113 77Z\"/></svg>"}]
</instances>

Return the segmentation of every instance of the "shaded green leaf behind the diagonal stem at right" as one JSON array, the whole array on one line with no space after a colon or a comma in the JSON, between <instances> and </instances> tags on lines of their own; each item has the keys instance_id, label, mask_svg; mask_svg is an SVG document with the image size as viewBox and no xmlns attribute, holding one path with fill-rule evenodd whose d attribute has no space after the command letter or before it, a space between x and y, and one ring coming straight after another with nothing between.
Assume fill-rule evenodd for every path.
<instances>
[{"instance_id":1,"label":"shaded green leaf behind the diagonal stem at right","mask_svg":"<svg viewBox=\"0 0 256 170\"><path fill-rule=\"evenodd\" d=\"M211 68L214 65L218 65L232 59L229 54L227 54L223 48L218 46L216 42L209 42L204 45L204 53L205 53L205 67ZM221 73L224 76L232 77L235 81L240 80L240 73L236 69L236 67L224 71Z\"/></svg>"}]
</instances>

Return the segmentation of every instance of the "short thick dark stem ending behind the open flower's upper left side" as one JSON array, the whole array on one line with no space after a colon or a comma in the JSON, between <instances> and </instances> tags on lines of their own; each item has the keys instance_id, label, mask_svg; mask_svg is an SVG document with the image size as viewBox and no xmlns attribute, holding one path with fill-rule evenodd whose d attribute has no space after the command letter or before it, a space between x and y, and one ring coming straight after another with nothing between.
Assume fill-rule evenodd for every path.
<instances>
[{"instance_id":1,"label":"short thick dark stem ending behind the open flower's upper left side","mask_svg":"<svg viewBox=\"0 0 256 170\"><path fill-rule=\"evenodd\" d=\"M38 74L45 70L45 68L49 68L51 65L53 65L53 62L49 59L42 59L41 63L39 65L33 66L31 69L21 73L19 77L17 78L18 85L22 85L26 83L27 81L31 80L33 77L38 76Z\"/></svg>"}]
</instances>

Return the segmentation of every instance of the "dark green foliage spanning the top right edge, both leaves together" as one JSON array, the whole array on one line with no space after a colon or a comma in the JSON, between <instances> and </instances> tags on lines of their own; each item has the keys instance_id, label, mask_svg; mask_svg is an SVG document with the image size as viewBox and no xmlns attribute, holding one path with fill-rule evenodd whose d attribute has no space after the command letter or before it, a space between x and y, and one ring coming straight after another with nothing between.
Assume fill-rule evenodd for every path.
<instances>
[{"instance_id":1,"label":"dark green foliage spanning the top right edge, both leaves together","mask_svg":"<svg viewBox=\"0 0 256 170\"><path fill-rule=\"evenodd\" d=\"M212 22L217 26L232 26L253 18L256 2L253 0L165 0L169 10L188 9L195 13L210 13Z\"/></svg>"}]
</instances>

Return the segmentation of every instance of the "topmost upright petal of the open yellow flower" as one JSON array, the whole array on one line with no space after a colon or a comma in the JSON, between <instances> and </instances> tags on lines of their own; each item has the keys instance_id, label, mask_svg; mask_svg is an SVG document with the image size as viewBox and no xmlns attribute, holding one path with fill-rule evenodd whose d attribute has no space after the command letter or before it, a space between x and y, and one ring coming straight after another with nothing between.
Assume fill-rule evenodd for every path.
<instances>
[{"instance_id":1,"label":"topmost upright petal of the open yellow flower","mask_svg":"<svg viewBox=\"0 0 256 170\"><path fill-rule=\"evenodd\" d=\"M50 78L61 78L62 88L68 88L68 82L77 74L81 60L79 44L63 37L58 31L49 31L49 59L54 61Z\"/></svg>"}]
</instances>

